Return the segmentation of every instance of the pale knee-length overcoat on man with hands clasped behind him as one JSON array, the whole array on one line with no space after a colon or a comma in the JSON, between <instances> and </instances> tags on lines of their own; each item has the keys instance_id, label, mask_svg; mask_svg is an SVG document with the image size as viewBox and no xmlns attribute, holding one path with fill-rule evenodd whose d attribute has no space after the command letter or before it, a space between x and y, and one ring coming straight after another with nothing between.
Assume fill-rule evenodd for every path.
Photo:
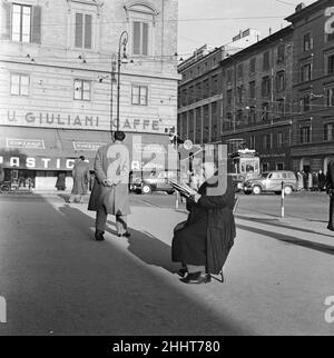
<instances>
[{"instance_id":1,"label":"pale knee-length overcoat on man with hands clasped behind him","mask_svg":"<svg viewBox=\"0 0 334 358\"><path fill-rule=\"evenodd\" d=\"M117 181L105 187L102 181ZM95 180L89 198L88 210L105 208L110 215L129 215L129 152L121 143L102 146L95 159Z\"/></svg>"}]
</instances>

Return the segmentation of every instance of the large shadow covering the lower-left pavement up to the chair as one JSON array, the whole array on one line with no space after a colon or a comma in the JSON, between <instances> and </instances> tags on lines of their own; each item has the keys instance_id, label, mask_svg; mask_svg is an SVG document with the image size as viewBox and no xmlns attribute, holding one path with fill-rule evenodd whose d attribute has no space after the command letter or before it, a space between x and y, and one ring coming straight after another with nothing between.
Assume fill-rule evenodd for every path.
<instances>
[{"instance_id":1,"label":"large shadow covering the lower-left pavement up to the chair","mask_svg":"<svg viewBox=\"0 0 334 358\"><path fill-rule=\"evenodd\" d=\"M95 241L94 218L76 207L3 200L0 287L10 305L0 335L255 334L209 304L214 282L183 286L170 248L148 232L130 229L128 250L143 263L112 229Z\"/></svg>"}]
</instances>

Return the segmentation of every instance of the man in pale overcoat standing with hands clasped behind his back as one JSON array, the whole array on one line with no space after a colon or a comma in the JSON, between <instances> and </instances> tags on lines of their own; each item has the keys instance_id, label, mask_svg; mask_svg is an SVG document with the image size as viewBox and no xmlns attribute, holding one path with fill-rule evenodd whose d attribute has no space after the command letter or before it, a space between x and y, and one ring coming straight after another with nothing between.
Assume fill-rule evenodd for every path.
<instances>
[{"instance_id":1,"label":"man in pale overcoat standing with hands clasped behind his back","mask_svg":"<svg viewBox=\"0 0 334 358\"><path fill-rule=\"evenodd\" d=\"M118 237L129 237L127 215L129 206L129 150L122 143L122 131L114 133L114 143L99 148L95 159L95 181L89 199L88 210L96 211L97 241L104 240L108 215L116 216Z\"/></svg>"}]
</instances>

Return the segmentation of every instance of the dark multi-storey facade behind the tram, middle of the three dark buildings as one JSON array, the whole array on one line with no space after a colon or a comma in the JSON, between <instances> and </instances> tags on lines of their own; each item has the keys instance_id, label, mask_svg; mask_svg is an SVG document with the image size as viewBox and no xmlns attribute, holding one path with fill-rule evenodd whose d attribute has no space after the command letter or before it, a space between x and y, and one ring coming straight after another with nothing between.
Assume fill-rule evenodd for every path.
<instances>
[{"instance_id":1,"label":"dark multi-storey facade behind the tram, middle of the three dark buildings","mask_svg":"<svg viewBox=\"0 0 334 358\"><path fill-rule=\"evenodd\" d=\"M262 171L291 167L292 32L287 27L220 62L223 143L255 149Z\"/></svg>"}]
</instances>

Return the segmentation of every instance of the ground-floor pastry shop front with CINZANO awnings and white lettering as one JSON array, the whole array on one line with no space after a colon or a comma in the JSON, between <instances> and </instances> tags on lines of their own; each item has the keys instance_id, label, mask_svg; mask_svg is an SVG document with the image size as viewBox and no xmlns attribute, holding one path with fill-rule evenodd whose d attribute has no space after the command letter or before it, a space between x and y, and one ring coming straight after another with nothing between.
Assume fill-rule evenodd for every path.
<instances>
[{"instance_id":1,"label":"ground-floor pastry shop front with CINZANO awnings and white lettering","mask_svg":"<svg viewBox=\"0 0 334 358\"><path fill-rule=\"evenodd\" d=\"M164 135L126 133L132 170L164 169L168 162L169 138ZM1 126L0 163L11 189L56 190L59 176L66 189L72 187L72 168L85 156L94 173L98 148L110 142L109 131L68 130ZM169 158L169 159L168 159Z\"/></svg>"}]
</instances>

